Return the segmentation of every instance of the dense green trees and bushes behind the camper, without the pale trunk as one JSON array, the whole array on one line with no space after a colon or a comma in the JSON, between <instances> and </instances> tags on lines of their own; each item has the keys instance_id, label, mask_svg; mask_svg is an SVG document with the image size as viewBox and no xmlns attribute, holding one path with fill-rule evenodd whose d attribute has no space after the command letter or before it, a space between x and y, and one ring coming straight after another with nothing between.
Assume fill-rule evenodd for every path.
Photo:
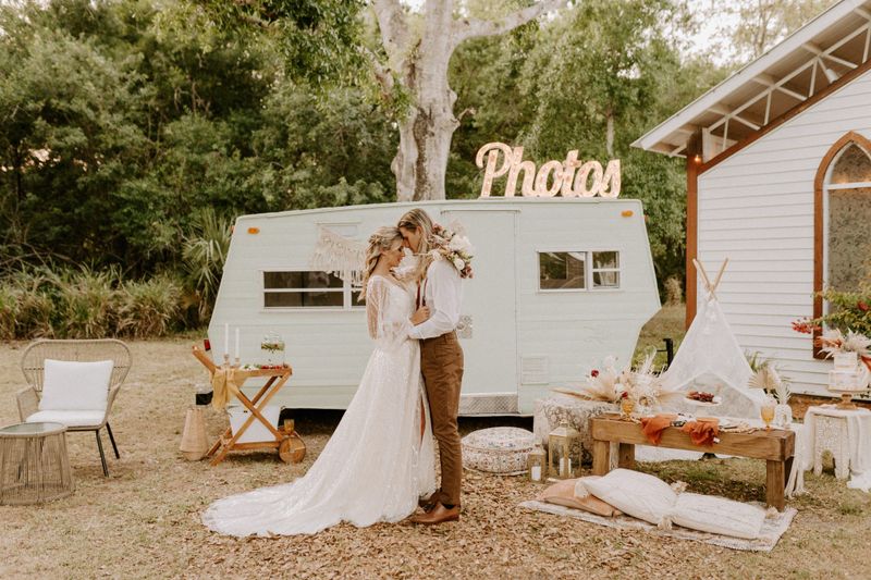
<instances>
[{"instance_id":1,"label":"dense green trees and bushes behind the camper, without the pale trunk","mask_svg":"<svg viewBox=\"0 0 871 580\"><path fill-rule=\"evenodd\" d=\"M589 0L461 45L450 63L462 121L450 197L477 197L475 153L493 140L539 163L571 149L619 158L623 196L645 203L660 280L683 277L683 163L630 144L724 74L680 52L684 4ZM457 10L498 18L525 5ZM176 301L172 316L199 324L236 215L392 201L395 121L412 96L372 81L364 47L379 52L380 39L363 9L0 4L0 268L11 272L0 336L162 333L172 324L160 312ZM144 284L127 288L135 304L130 280ZM128 322L134 311L158 321Z\"/></svg>"}]
</instances>

